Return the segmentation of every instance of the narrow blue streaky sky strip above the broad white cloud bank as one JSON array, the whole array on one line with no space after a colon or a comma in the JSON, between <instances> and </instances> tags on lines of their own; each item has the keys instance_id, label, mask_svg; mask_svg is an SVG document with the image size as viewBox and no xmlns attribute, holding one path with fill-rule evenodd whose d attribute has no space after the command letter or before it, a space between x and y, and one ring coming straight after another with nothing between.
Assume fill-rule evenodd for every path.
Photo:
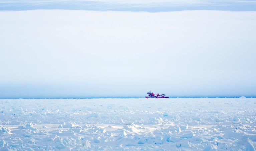
<instances>
[{"instance_id":1,"label":"narrow blue streaky sky strip above the broad white cloud bank","mask_svg":"<svg viewBox=\"0 0 256 151\"><path fill-rule=\"evenodd\" d=\"M96 11L255 11L255 0L2 0L0 10L70 9Z\"/></svg>"}]
</instances>

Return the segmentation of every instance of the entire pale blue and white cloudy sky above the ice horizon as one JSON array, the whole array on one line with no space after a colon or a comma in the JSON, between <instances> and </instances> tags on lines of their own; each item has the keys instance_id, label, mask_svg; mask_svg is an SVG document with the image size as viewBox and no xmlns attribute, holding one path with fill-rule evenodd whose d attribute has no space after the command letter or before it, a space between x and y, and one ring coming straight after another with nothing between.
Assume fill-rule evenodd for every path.
<instances>
[{"instance_id":1,"label":"entire pale blue and white cloudy sky above the ice horizon","mask_svg":"<svg viewBox=\"0 0 256 151\"><path fill-rule=\"evenodd\" d=\"M56 10L71 3L64 0L0 2L0 98L144 97L150 90L256 97L256 11L250 7L192 9L224 3L214 0L91 2L100 9ZM170 9L178 7L192 10Z\"/></svg>"}]
</instances>

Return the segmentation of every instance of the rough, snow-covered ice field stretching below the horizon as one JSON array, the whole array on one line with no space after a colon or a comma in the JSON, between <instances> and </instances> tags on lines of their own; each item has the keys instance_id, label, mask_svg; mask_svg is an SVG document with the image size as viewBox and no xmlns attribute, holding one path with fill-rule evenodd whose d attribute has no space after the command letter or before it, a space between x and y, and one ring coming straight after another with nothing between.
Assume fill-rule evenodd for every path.
<instances>
[{"instance_id":1,"label":"rough, snow-covered ice field stretching below the horizon","mask_svg":"<svg viewBox=\"0 0 256 151\"><path fill-rule=\"evenodd\" d=\"M0 99L0 150L248 150L256 98Z\"/></svg>"}]
</instances>

